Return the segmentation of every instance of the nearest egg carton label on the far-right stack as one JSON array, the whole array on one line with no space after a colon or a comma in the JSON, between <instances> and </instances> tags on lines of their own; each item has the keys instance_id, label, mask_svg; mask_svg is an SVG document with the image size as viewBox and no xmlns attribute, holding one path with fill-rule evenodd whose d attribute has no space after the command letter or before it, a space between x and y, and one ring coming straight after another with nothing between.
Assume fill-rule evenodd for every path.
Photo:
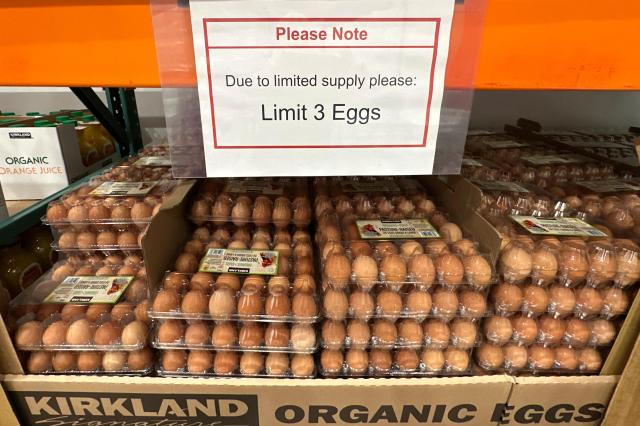
<instances>
[{"instance_id":1,"label":"nearest egg carton label on the far-right stack","mask_svg":"<svg viewBox=\"0 0 640 426\"><path fill-rule=\"evenodd\" d=\"M535 235L606 237L607 234L582 219L572 217L534 217L511 215L516 223Z\"/></svg>"}]
</instances>

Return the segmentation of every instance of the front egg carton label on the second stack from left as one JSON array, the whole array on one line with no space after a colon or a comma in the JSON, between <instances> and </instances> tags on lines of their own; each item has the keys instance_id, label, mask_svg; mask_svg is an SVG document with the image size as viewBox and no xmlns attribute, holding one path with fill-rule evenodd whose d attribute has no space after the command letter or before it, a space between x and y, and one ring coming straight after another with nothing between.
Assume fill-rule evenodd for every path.
<instances>
[{"instance_id":1,"label":"front egg carton label on the second stack from left","mask_svg":"<svg viewBox=\"0 0 640 426\"><path fill-rule=\"evenodd\" d=\"M275 250L233 250L211 248L200 262L200 272L277 275Z\"/></svg>"}]
</instances>

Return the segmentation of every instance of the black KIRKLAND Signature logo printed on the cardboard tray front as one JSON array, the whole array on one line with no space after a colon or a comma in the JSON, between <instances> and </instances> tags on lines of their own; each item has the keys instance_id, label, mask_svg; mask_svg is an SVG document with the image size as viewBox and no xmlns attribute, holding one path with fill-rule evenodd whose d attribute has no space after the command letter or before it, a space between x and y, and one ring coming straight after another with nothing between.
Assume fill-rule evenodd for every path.
<instances>
[{"instance_id":1,"label":"black KIRKLAND Signature logo printed on the cardboard tray front","mask_svg":"<svg viewBox=\"0 0 640 426\"><path fill-rule=\"evenodd\" d=\"M20 391L9 395L22 424L259 426L256 395Z\"/></svg>"}]
</instances>

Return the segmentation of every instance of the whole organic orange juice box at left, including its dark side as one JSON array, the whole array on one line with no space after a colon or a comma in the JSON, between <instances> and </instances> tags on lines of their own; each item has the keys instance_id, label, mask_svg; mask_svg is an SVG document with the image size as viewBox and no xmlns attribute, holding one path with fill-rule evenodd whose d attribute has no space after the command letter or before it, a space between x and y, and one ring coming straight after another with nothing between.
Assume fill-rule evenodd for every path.
<instances>
[{"instance_id":1,"label":"whole organic orange juice box at left, including its dark side","mask_svg":"<svg viewBox=\"0 0 640 426\"><path fill-rule=\"evenodd\" d=\"M20 124L30 126L40 118ZM7 200L45 198L120 158L114 153L89 166L82 163L78 129L0 126L0 184Z\"/></svg>"}]
</instances>

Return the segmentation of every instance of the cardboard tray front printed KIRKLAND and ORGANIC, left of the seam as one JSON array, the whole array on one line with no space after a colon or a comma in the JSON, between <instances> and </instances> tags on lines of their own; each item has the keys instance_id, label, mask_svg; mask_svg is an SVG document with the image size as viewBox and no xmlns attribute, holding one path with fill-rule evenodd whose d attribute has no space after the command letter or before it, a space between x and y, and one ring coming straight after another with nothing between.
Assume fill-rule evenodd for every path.
<instances>
[{"instance_id":1,"label":"cardboard tray front printed KIRKLAND and ORGANIC, left of the seam","mask_svg":"<svg viewBox=\"0 0 640 426\"><path fill-rule=\"evenodd\" d=\"M506 376L426 379L168 379L7 376L23 424L496 424ZM113 415L109 415L113 414ZM135 415L135 419L132 415ZM216 423L219 421L220 423ZM62 423L64 422L64 423ZM124 424L124 423L123 423ZM138 424L138 423L136 423Z\"/></svg>"}]
</instances>

